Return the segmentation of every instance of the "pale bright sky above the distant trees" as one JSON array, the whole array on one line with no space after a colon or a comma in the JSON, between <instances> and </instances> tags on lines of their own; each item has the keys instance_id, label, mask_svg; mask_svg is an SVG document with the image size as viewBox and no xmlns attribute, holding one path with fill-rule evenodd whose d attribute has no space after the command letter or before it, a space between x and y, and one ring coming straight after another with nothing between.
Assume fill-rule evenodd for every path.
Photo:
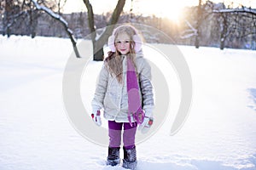
<instances>
[{"instance_id":1,"label":"pale bright sky above the distant trees","mask_svg":"<svg viewBox=\"0 0 256 170\"><path fill-rule=\"evenodd\" d=\"M202 0L204 1L204 0ZM115 8L118 0L90 0L90 3L93 6L95 14L106 13ZM157 3L155 3L157 2ZM178 20L181 16L181 9L185 6L194 6L198 4L198 0L179 0L179 3L175 5L169 5L169 3L174 3L174 0L126 0L124 10L129 12L133 7L134 13L139 14L155 14L161 17L168 17L171 20ZM214 3L226 3L230 4L233 2L234 6L239 6L243 4L247 7L256 7L256 0L212 0ZM166 5L167 4L167 5ZM85 5L82 0L67 0L67 5L64 8L64 12L71 13L75 11L86 11Z\"/></svg>"}]
</instances>

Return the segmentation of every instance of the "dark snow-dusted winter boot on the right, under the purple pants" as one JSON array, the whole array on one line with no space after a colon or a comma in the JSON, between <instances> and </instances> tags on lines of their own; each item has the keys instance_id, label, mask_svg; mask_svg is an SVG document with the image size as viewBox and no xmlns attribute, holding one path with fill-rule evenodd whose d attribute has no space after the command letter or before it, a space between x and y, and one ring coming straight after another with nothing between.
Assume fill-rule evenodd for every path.
<instances>
[{"instance_id":1,"label":"dark snow-dusted winter boot on the right, under the purple pants","mask_svg":"<svg viewBox=\"0 0 256 170\"><path fill-rule=\"evenodd\" d=\"M131 170L136 170L137 167L137 156L136 156L136 148L132 148L131 150L126 150L124 148L124 159L123 159L123 167Z\"/></svg>"}]
</instances>

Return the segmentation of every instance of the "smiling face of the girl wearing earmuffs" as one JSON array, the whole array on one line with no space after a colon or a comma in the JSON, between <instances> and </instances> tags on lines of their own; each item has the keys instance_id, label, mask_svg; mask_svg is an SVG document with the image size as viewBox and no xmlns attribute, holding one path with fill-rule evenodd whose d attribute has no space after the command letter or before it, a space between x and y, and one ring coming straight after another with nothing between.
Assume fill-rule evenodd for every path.
<instances>
[{"instance_id":1,"label":"smiling face of the girl wearing earmuffs","mask_svg":"<svg viewBox=\"0 0 256 170\"><path fill-rule=\"evenodd\" d=\"M121 54L130 52L130 37L126 33L121 33L115 40L115 47Z\"/></svg>"}]
</instances>

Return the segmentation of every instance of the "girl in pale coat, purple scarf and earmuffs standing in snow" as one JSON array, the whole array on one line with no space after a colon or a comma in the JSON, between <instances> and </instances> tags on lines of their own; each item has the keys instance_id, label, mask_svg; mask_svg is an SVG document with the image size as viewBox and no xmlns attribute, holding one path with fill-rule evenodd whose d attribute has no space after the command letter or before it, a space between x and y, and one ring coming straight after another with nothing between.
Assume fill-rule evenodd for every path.
<instances>
[{"instance_id":1,"label":"girl in pale coat, purple scarf and earmuffs standing in snow","mask_svg":"<svg viewBox=\"0 0 256 170\"><path fill-rule=\"evenodd\" d=\"M100 110L104 109L104 117L108 120L107 164L116 166L120 162L119 149L124 127L123 167L136 169L137 125L145 133L153 122L151 69L143 58L142 41L133 26L117 27L108 38L108 46L111 51L108 52L99 75L96 93L91 102L91 116L101 126Z\"/></svg>"}]
</instances>

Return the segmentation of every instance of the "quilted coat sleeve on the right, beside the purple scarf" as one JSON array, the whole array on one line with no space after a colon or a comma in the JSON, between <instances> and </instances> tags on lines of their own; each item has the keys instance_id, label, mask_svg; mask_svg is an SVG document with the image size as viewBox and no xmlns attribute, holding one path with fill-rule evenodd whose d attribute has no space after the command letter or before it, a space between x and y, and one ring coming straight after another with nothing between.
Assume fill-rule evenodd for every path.
<instances>
[{"instance_id":1,"label":"quilted coat sleeve on the right, beside the purple scarf","mask_svg":"<svg viewBox=\"0 0 256 170\"><path fill-rule=\"evenodd\" d=\"M139 82L143 96L143 110L146 116L152 116L154 109L154 94L151 82L151 67L146 59L142 59Z\"/></svg>"}]
</instances>

